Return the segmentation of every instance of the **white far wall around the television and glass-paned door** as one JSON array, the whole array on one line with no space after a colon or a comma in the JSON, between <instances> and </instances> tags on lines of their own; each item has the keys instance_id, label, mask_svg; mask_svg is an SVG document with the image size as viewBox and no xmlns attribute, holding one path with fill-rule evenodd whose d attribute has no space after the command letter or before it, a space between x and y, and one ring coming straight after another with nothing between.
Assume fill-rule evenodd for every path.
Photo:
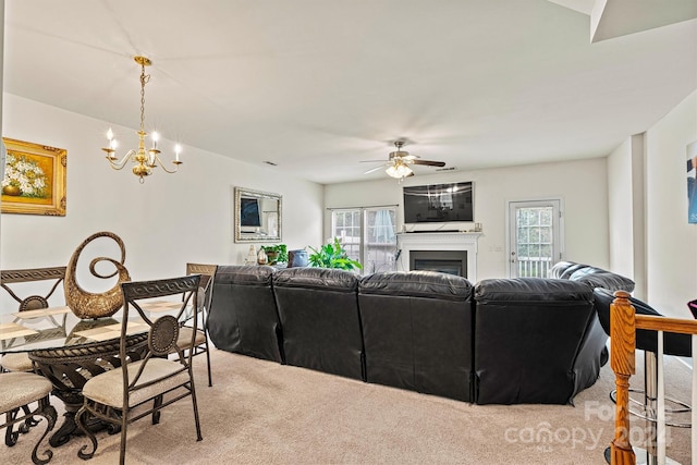
<instances>
[{"instance_id":1,"label":"white far wall around the television and glass-paned door","mask_svg":"<svg viewBox=\"0 0 697 465\"><path fill-rule=\"evenodd\" d=\"M325 186L327 208L402 205L402 186L474 181L475 221L482 223L477 278L508 276L505 254L506 200L562 197L565 215L564 258L609 266L606 159L542 163L470 172L416 175L403 184L392 179ZM403 223L398 208L398 228ZM326 212L329 225L330 212ZM470 228L470 227L469 227ZM467 228L467 229L469 229ZM329 228L325 236L330 234Z\"/></svg>"}]
</instances>

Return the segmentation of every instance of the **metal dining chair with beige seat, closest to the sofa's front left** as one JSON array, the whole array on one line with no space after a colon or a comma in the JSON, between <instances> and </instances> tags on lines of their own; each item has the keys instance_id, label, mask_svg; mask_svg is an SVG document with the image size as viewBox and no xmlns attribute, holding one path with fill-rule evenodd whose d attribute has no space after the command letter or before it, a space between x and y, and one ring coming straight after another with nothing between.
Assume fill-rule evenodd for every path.
<instances>
[{"instance_id":1,"label":"metal dining chair with beige seat, closest to the sofa's front left","mask_svg":"<svg viewBox=\"0 0 697 465\"><path fill-rule=\"evenodd\" d=\"M152 424L160 421L160 411L185 399L192 399L196 437L200 441L200 423L196 403L196 389L192 370L193 351L184 354L178 344L181 322L192 316L188 344L194 344L198 325L198 289L200 274L156 281L123 282L121 289L124 306L121 318L120 355L129 360L119 368L90 378L83 387L84 403L75 419L78 428L89 438L91 450L84 445L77 455L91 458L97 451L97 438L88 428L90 420L100 420L121 428L120 463L125 462L127 427L143 417L151 416ZM175 315L150 313L144 309L147 299L172 297ZM181 301L174 301L174 297ZM146 306L147 307L147 306ZM161 315L161 316L160 316ZM139 330L134 332L134 328ZM147 338L142 338L147 330ZM134 346L131 341L140 338ZM176 360L168 358L175 351ZM164 399L167 394L167 399Z\"/></svg>"}]
</instances>

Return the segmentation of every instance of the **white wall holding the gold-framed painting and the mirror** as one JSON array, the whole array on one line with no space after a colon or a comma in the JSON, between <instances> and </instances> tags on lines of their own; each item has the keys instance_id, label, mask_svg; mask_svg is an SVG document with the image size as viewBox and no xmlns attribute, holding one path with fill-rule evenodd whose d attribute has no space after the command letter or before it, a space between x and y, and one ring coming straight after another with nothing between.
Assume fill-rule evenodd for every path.
<instances>
[{"instance_id":1,"label":"white wall holding the gold-framed painting and the mirror","mask_svg":"<svg viewBox=\"0 0 697 465\"><path fill-rule=\"evenodd\" d=\"M156 169L139 184L130 168L112 170L100 149L110 125L124 135L122 150L137 145L135 130L10 94L2 109L3 136L68 150L66 216L3 213L3 269L68 265L75 247L98 231L123 238L135 280L181 274L186 261L241 264L249 245L233 242L233 186L283 196L282 242L289 248L322 241L322 186L290 179L283 167L255 167L184 146L179 173ZM171 160L166 151L173 144L162 140L160 147Z\"/></svg>"}]
</instances>

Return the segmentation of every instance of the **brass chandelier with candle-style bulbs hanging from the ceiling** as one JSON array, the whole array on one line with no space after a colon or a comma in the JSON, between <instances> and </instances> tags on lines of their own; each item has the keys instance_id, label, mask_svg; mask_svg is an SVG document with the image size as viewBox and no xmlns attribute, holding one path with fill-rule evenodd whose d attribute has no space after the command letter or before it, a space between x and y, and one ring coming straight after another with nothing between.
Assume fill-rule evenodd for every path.
<instances>
[{"instance_id":1,"label":"brass chandelier with candle-style bulbs hanging from the ceiling","mask_svg":"<svg viewBox=\"0 0 697 465\"><path fill-rule=\"evenodd\" d=\"M150 59L146 57L134 57L136 63L140 65L140 130L136 132L138 134L138 148L129 150L123 158L119 159L117 157L117 139L113 137L113 131L109 127L107 132L107 140L109 140L109 147L102 148L103 151L107 152L107 160L109 160L109 164L114 170L122 170L126 162L131 160L135 166L133 167L133 174L140 179L140 184L145 182L145 176L149 176L152 174L152 168L159 167L167 173L173 174L179 170L179 166L182 164L179 156L182 151L179 144L174 146L174 169L168 170L162 164L160 160L160 150L157 148L158 134L152 132L150 136L152 140L152 146L148 149L145 148L145 136L147 133L145 132L145 85L150 81L150 75L145 74L145 66L149 66L152 64Z\"/></svg>"}]
</instances>

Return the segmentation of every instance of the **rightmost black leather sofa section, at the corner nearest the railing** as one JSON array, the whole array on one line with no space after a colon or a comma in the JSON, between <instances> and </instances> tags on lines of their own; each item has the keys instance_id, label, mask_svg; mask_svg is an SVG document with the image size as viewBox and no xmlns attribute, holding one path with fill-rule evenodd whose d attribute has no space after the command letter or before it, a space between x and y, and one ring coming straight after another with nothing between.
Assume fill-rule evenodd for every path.
<instances>
[{"instance_id":1,"label":"rightmost black leather sofa section, at the corner nearest the railing","mask_svg":"<svg viewBox=\"0 0 697 465\"><path fill-rule=\"evenodd\" d=\"M477 404L568 404L598 379L608 336L586 284L482 280L475 301Z\"/></svg>"}]
</instances>

